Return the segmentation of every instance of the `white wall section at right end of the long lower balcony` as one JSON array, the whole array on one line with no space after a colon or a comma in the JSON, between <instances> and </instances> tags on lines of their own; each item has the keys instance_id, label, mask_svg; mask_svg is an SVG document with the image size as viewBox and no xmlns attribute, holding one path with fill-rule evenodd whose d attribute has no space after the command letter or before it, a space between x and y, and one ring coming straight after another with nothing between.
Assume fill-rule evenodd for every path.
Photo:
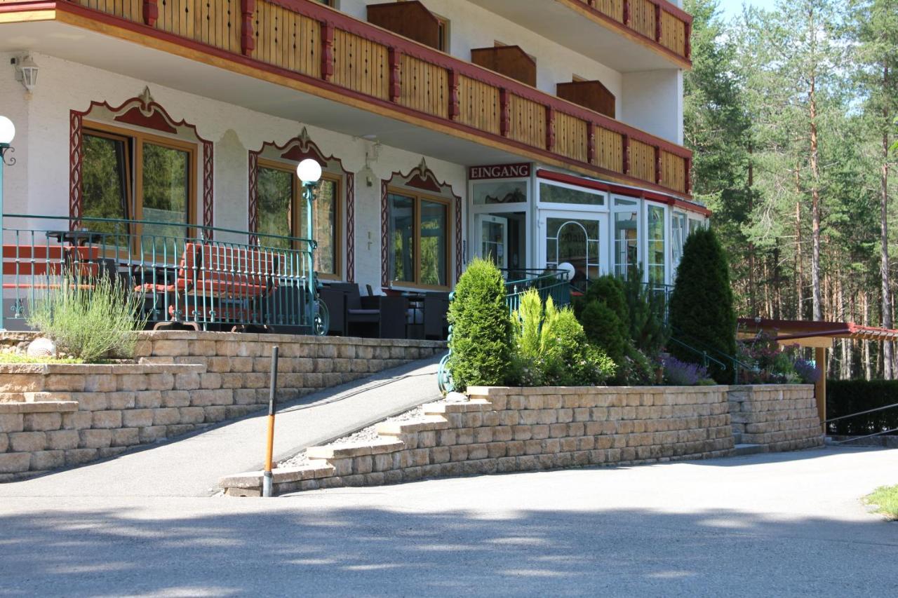
<instances>
[{"instance_id":1,"label":"white wall section at right end of the long lower balcony","mask_svg":"<svg viewBox=\"0 0 898 598\"><path fill-rule=\"evenodd\" d=\"M625 73L618 119L682 145L682 71Z\"/></svg>"}]
</instances>

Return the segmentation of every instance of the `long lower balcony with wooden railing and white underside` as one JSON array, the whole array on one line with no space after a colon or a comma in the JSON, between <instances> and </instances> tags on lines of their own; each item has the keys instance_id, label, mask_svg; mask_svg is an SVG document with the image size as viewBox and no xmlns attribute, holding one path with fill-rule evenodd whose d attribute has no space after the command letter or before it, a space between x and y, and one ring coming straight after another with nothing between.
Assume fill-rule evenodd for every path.
<instances>
[{"instance_id":1,"label":"long lower balcony with wooden railing and white underside","mask_svg":"<svg viewBox=\"0 0 898 598\"><path fill-rule=\"evenodd\" d=\"M380 119L384 143L465 165L524 156L690 193L682 146L306 0L58 0L0 13L0 50L28 39L36 51L353 135ZM135 42L128 61L115 60L117 39Z\"/></svg>"}]
</instances>

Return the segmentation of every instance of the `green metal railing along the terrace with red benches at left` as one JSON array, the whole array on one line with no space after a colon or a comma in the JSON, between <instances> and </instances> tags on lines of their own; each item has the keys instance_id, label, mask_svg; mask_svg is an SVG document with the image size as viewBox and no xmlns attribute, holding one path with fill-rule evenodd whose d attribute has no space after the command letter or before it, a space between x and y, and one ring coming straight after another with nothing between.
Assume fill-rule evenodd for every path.
<instances>
[{"instance_id":1,"label":"green metal railing along the terrace with red benches at left","mask_svg":"<svg viewBox=\"0 0 898 598\"><path fill-rule=\"evenodd\" d=\"M140 295L150 324L198 330L317 332L315 242L198 224L4 215L5 320L73 277L110 277ZM318 325L316 325L316 321ZM22 326L23 327L23 326Z\"/></svg>"}]
</instances>

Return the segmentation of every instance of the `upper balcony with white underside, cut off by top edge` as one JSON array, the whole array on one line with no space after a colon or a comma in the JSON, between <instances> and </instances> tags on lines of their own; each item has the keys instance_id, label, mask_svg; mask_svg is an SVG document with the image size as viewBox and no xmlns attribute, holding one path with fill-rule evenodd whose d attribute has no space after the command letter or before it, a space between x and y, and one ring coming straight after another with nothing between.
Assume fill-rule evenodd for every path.
<instances>
[{"instance_id":1,"label":"upper balcony with white underside, cut off by top edge","mask_svg":"<svg viewBox=\"0 0 898 598\"><path fill-rule=\"evenodd\" d=\"M667 0L471 2L620 72L691 68L691 14Z\"/></svg>"}]
</instances>

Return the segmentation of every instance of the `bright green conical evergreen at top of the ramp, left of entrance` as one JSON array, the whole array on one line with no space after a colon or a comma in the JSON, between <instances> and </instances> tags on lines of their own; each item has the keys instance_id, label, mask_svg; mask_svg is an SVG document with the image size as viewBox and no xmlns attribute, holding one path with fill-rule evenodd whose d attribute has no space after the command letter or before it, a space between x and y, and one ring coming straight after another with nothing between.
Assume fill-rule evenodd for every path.
<instances>
[{"instance_id":1,"label":"bright green conical evergreen at top of the ramp, left of entrance","mask_svg":"<svg viewBox=\"0 0 898 598\"><path fill-rule=\"evenodd\" d=\"M459 391L506 382L511 370L511 321L505 297L496 266L486 259L471 260L455 286L447 316L453 327L449 372Z\"/></svg>"}]
</instances>

